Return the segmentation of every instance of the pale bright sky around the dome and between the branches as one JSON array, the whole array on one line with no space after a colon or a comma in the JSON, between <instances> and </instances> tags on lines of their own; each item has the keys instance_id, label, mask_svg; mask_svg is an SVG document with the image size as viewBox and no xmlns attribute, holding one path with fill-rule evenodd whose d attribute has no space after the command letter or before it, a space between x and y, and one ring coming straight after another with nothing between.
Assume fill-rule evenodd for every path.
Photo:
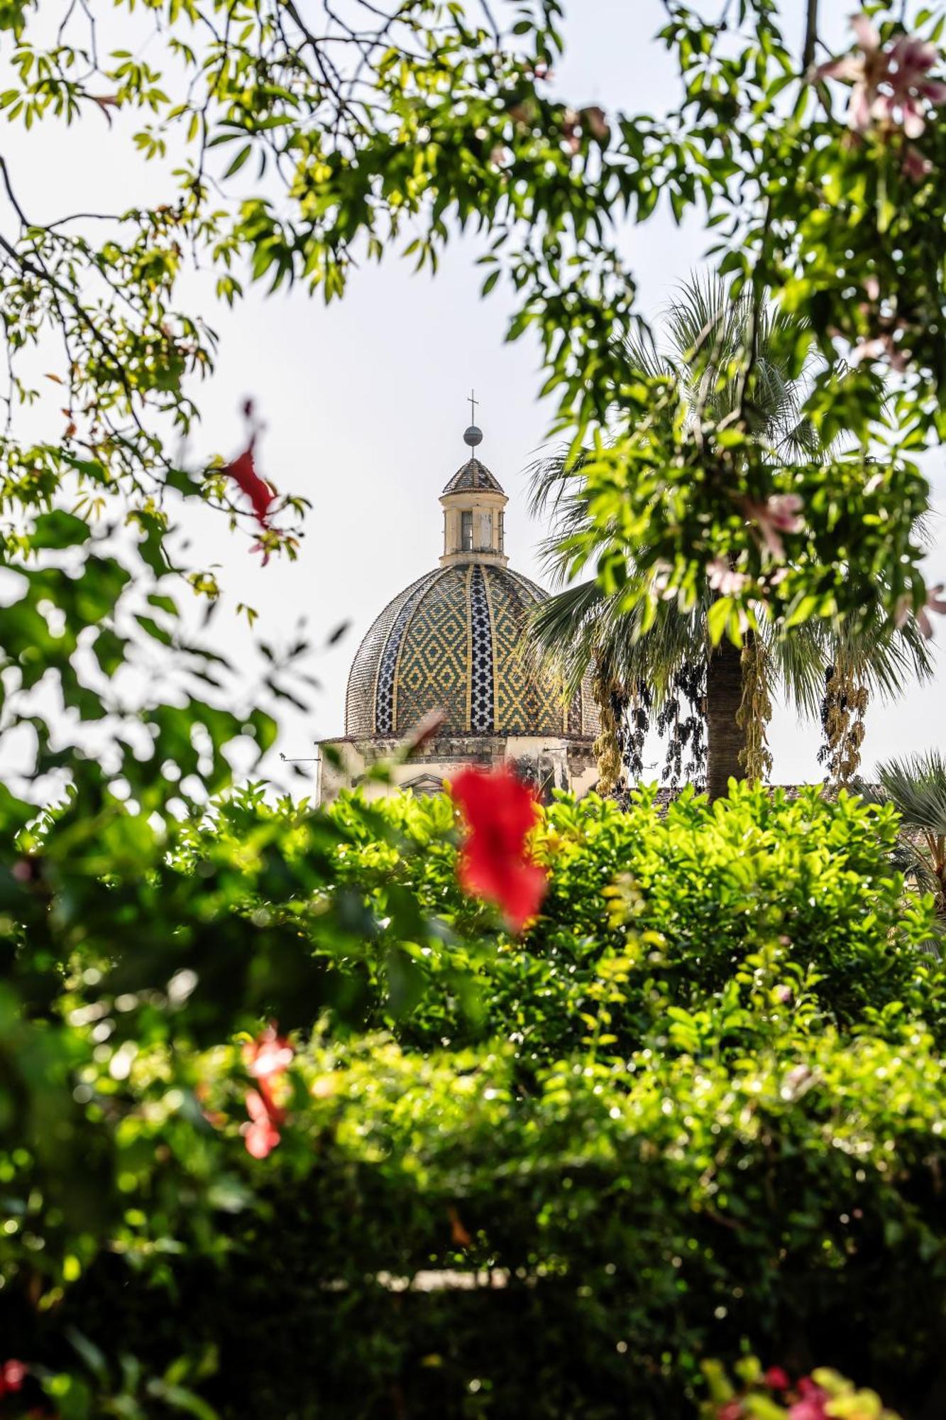
<instances>
[{"instance_id":1,"label":"pale bright sky around the dome and between the branches","mask_svg":"<svg viewBox=\"0 0 946 1420\"><path fill-rule=\"evenodd\" d=\"M847 47L848 7L828 0L822 10L831 17L830 43ZM800 44L801 0L788 0L784 11ZM632 112L673 102L670 60L651 40L662 14L659 0L571 0L567 58L558 67L555 91L575 106L595 102ZM111 34L99 38L108 47ZM105 124L92 132L92 124L85 119L74 133L53 122L40 135L4 133L4 152L28 210L51 217L71 210L70 203L80 210L153 199L156 175L142 172L126 135ZM251 178L246 182L251 185ZM699 266L706 244L699 226L676 229L668 212L628 230L625 250L648 317L659 317L675 284ZM267 568L222 520L189 514L186 531L200 547L197 557L220 564L226 589L226 606L213 623L214 646L237 662L246 657L237 601L259 609L259 626L271 642L294 639L304 618L318 648L341 621L352 622L338 646L312 656L310 669L322 689L311 714L284 714L277 748L290 758L311 755L314 740L342 733L348 665L361 636L401 588L436 564L437 494L466 456L462 432L472 386L484 430L480 456L510 496L511 565L538 574L534 550L543 528L527 515L524 469L543 444L551 408L535 402L541 385L535 346L527 339L504 344L510 305L501 287L486 301L479 297L482 271L474 258L480 250L476 240L457 239L433 280L412 275L411 264L392 254L381 267L355 275L345 298L328 310L294 290L268 300L251 291L229 312L206 301L200 288L220 337L220 358L216 375L197 392L203 430L192 449L195 463L214 450L239 452L239 406L251 395L267 425L260 471L280 490L312 503L298 562L277 561ZM935 581L946 579L943 471L943 454L936 453L928 463L939 506L930 555ZM912 687L893 706L871 709L865 768L891 754L946 746L942 650L937 663L933 684ZM777 782L821 778L818 726L800 727L794 716L778 710L770 738ZM278 761L270 768L281 777Z\"/></svg>"}]
</instances>

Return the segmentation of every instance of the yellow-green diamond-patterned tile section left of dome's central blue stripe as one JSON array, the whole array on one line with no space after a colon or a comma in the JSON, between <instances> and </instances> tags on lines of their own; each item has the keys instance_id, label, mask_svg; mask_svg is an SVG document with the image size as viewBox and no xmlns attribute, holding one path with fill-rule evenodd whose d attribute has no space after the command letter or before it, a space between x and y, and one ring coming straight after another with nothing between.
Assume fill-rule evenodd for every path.
<instances>
[{"instance_id":1,"label":"yellow-green diamond-patterned tile section left of dome's central blue stripe","mask_svg":"<svg viewBox=\"0 0 946 1420\"><path fill-rule=\"evenodd\" d=\"M463 734L467 730L466 574L463 565L446 568L418 599L398 665L398 734L406 734L430 710L446 713L445 733ZM381 706L378 710L381 714Z\"/></svg>"}]
</instances>

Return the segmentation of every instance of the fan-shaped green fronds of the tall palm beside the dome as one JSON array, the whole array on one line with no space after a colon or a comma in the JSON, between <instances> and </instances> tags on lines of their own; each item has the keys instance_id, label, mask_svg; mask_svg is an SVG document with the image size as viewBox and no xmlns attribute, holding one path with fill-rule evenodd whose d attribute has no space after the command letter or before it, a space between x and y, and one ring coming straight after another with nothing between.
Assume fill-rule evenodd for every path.
<instances>
[{"instance_id":1,"label":"fan-shaped green fronds of the tall palm beside the dome","mask_svg":"<svg viewBox=\"0 0 946 1420\"><path fill-rule=\"evenodd\" d=\"M770 301L754 311L749 293L733 295L720 277L697 274L676 291L663 329L666 352L649 331L642 331L625 345L628 364L648 378L673 376L693 417L712 426L734 409L740 372L751 358L747 415L770 457L781 467L791 467L831 454L804 413L811 368L818 358L807 322ZM643 632L642 608L628 608L625 594L605 596L594 581L568 585L588 577L615 531L597 527L591 518L584 469L581 456L570 460L560 450L537 460L530 470L531 508L550 521L541 561L547 575L562 588L533 618L537 653L554 660L572 687L592 659L604 662L614 679L626 686L645 680L659 706L676 672L709 653L706 611L712 595L706 586L703 598L686 615L676 604L660 602ZM634 577L634 565L629 571ZM928 645L913 621L896 630L878 618L857 635L847 628L838 632L822 621L810 621L785 635L777 623L763 622L761 636L788 701L805 717L820 717L827 672L839 660L871 696L895 696L908 680L932 673Z\"/></svg>"}]
</instances>

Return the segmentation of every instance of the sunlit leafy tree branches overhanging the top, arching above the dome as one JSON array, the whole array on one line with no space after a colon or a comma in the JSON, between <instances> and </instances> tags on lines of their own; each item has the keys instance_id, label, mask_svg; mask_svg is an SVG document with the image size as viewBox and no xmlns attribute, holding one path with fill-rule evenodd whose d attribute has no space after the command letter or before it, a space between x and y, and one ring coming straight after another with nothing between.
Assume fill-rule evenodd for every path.
<instances>
[{"instance_id":1,"label":"sunlit leafy tree branches overhanging the top, arching above the dome","mask_svg":"<svg viewBox=\"0 0 946 1420\"><path fill-rule=\"evenodd\" d=\"M903 18L872 9L889 50ZM37 398L18 356L47 334L62 346L50 373L65 398L61 444L7 437L10 490L43 498L72 474L92 501L122 488L158 540L168 486L239 517L220 479L195 483L156 433L163 419L193 426L186 381L213 361L206 321L176 298L189 256L210 256L230 302L247 275L332 300L359 261L395 246L433 270L456 230L476 226L489 239L484 291L504 278L516 293L510 337L538 337L558 427L594 452L607 592L626 586L629 602L652 605L648 575L669 569L686 611L706 564L723 559L744 584L724 598L714 639L753 622L756 605L788 625L922 613L913 525L928 487L915 454L942 433L943 125L923 99L919 136L898 128L895 109L852 136L832 106L837 80L807 71L818 6L801 61L774 0L737 10L730 30L668 0L660 38L678 60L679 102L663 115L605 115L555 95L560 0L507 0L497 14L483 0L348 0L311 21L284 0L189 0L145 11L146 61L99 55L82 7L50 38L37 10L13 6L7 121L128 115L142 159L175 158L178 186L153 209L97 214L91 230L70 213L43 224L4 160L17 229L3 246L9 399ZM940 21L923 13L918 24L935 67ZM250 172L271 189L250 192ZM639 358L635 284L618 250L618 219L643 226L659 203L678 220L706 214L720 271L749 311L732 359L705 362L695 419L683 417L678 381ZM773 362L759 348L766 290L781 307L766 331ZM795 312L821 366L773 439L756 392L777 395L784 376L773 383L771 372L804 368L810 337L783 320ZM878 341L899 381L892 402L871 355ZM717 422L720 410L724 437L709 447L703 415ZM795 437L804 430L817 447ZM839 430L851 447L821 453ZM785 437L807 457L785 464ZM753 513L784 497L804 507L790 565ZM274 534L273 547L291 550L291 537ZM628 557L639 585L626 585Z\"/></svg>"}]
</instances>

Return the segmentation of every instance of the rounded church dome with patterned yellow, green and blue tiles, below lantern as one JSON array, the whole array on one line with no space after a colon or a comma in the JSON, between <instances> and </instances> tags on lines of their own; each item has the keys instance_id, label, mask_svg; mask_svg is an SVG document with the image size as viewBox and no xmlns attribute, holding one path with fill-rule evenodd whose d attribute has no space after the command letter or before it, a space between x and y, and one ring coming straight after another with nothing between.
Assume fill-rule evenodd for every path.
<instances>
[{"instance_id":1,"label":"rounded church dome with patterned yellow, green and blue tiles, below lantern","mask_svg":"<svg viewBox=\"0 0 946 1420\"><path fill-rule=\"evenodd\" d=\"M401 737L432 710L446 716L443 736L597 734L589 686L567 704L524 646L528 612L547 594L494 551L477 558L447 545L442 562L395 596L362 640L345 734Z\"/></svg>"}]
</instances>

